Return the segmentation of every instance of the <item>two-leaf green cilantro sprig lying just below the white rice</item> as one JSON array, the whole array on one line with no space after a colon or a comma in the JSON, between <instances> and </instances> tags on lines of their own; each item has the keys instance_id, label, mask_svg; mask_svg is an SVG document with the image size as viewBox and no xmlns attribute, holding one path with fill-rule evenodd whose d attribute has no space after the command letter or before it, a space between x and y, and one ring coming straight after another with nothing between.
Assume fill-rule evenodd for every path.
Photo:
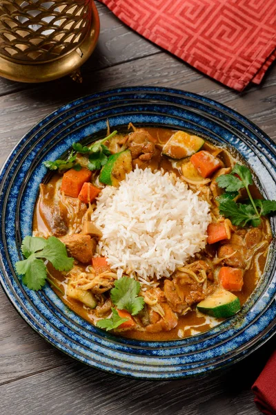
<instances>
[{"instance_id":1,"label":"two-leaf green cilantro sprig lying just below the white rice","mask_svg":"<svg viewBox=\"0 0 276 415\"><path fill-rule=\"evenodd\" d=\"M115 287L110 291L112 303L118 310L126 310L131 315L137 315L144 307L144 298L139 297L141 285L135 279L122 277L115 282ZM117 329L121 324L128 321L127 318L121 318L115 308L112 308L110 318L104 318L97 322L101 329Z\"/></svg>"}]
</instances>

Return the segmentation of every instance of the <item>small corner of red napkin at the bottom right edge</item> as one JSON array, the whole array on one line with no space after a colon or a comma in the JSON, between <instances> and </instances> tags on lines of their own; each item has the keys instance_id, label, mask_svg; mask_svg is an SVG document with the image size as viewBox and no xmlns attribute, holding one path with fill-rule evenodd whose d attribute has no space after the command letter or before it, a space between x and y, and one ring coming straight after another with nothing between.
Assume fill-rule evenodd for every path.
<instances>
[{"instance_id":1,"label":"small corner of red napkin at the bottom right edge","mask_svg":"<svg viewBox=\"0 0 276 415\"><path fill-rule=\"evenodd\" d=\"M266 415L276 414L276 351L270 357L264 370L254 383L254 402Z\"/></svg>"}]
</instances>

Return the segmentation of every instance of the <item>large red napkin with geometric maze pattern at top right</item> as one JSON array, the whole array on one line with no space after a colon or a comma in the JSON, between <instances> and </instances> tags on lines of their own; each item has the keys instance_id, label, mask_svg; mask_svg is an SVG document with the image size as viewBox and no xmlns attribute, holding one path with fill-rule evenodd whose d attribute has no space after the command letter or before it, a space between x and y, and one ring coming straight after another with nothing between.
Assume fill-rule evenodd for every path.
<instances>
[{"instance_id":1,"label":"large red napkin with geometric maze pattern at top right","mask_svg":"<svg viewBox=\"0 0 276 415\"><path fill-rule=\"evenodd\" d=\"M276 59L276 0L100 0L130 28L242 91Z\"/></svg>"}]
</instances>

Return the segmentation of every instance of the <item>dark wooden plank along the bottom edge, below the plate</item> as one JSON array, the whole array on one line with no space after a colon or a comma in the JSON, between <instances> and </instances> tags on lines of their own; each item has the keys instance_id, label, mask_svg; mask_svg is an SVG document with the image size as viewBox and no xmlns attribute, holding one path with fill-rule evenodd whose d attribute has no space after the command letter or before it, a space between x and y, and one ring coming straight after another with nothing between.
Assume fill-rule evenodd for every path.
<instances>
[{"instance_id":1,"label":"dark wooden plank along the bottom edge, below the plate","mask_svg":"<svg viewBox=\"0 0 276 415\"><path fill-rule=\"evenodd\" d=\"M144 381L72 362L0 387L5 415L258 415L250 391L275 342L228 371L201 378ZM241 376L242 374L242 376Z\"/></svg>"}]
</instances>

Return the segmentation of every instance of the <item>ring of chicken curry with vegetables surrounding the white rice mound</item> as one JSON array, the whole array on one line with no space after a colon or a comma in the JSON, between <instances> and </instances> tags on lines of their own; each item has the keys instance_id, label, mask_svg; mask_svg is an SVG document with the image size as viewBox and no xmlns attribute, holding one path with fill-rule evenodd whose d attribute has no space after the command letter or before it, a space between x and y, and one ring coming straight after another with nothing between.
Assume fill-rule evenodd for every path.
<instances>
[{"instance_id":1,"label":"ring of chicken curry with vegetables surrounding the white rice mound","mask_svg":"<svg viewBox=\"0 0 276 415\"><path fill-rule=\"evenodd\" d=\"M56 237L66 246L72 269L57 270L48 261L48 281L88 322L139 340L185 338L235 315L253 293L264 273L270 224L235 151L184 131L130 128L96 147L77 143L67 160L46 164L55 172L40 185L33 237ZM150 286L133 285L98 255L102 232L90 220L103 188L118 187L135 168L175 174L210 207L205 248ZM122 308L119 292L130 291L134 305Z\"/></svg>"}]
</instances>

